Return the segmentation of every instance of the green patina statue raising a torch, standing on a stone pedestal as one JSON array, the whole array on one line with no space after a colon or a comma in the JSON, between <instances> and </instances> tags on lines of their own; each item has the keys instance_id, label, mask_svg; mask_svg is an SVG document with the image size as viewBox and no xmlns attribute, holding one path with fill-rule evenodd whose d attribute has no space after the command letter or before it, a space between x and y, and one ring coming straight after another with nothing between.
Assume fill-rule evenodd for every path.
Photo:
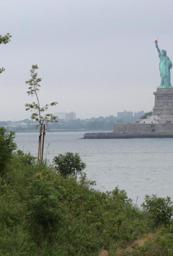
<instances>
[{"instance_id":1,"label":"green patina statue raising a torch, standing on a stone pedestal","mask_svg":"<svg viewBox=\"0 0 173 256\"><path fill-rule=\"evenodd\" d=\"M156 48L159 53L160 63L159 63L159 69L161 74L161 85L157 88L168 88L173 87L171 85L171 74L170 69L172 69L172 62L171 59L167 56L165 50L160 50L158 46L158 40L155 40Z\"/></svg>"}]
</instances>

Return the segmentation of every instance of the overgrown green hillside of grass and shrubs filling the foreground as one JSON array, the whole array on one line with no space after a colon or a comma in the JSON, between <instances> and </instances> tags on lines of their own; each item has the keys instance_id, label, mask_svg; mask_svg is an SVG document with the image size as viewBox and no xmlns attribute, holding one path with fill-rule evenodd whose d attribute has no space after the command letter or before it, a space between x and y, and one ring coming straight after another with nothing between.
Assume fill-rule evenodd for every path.
<instances>
[{"instance_id":1,"label":"overgrown green hillside of grass and shrubs filling the foreground","mask_svg":"<svg viewBox=\"0 0 173 256\"><path fill-rule=\"evenodd\" d=\"M173 256L172 220L158 225L149 201L140 210L118 187L97 191L82 171L64 177L13 149L0 179L0 255L98 256L104 248L110 256Z\"/></svg>"}]
</instances>

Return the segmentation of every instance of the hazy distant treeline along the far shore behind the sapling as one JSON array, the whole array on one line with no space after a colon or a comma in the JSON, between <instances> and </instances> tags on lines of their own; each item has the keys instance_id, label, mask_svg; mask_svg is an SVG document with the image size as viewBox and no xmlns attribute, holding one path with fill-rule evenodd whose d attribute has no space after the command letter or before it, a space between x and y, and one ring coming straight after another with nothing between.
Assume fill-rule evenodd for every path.
<instances>
[{"instance_id":1,"label":"hazy distant treeline along the far shore behind the sapling","mask_svg":"<svg viewBox=\"0 0 173 256\"><path fill-rule=\"evenodd\" d=\"M92 117L90 119L76 119L66 121L64 119L59 119L57 123L49 125L49 129L68 129L68 130L95 130L104 129L112 130L114 124L124 124L132 123L135 121L135 117L124 117L119 119L116 116L110 115L107 117ZM24 119L20 121L0 121L0 126L5 126L8 130L35 130L35 123L29 119Z\"/></svg>"}]
</instances>

